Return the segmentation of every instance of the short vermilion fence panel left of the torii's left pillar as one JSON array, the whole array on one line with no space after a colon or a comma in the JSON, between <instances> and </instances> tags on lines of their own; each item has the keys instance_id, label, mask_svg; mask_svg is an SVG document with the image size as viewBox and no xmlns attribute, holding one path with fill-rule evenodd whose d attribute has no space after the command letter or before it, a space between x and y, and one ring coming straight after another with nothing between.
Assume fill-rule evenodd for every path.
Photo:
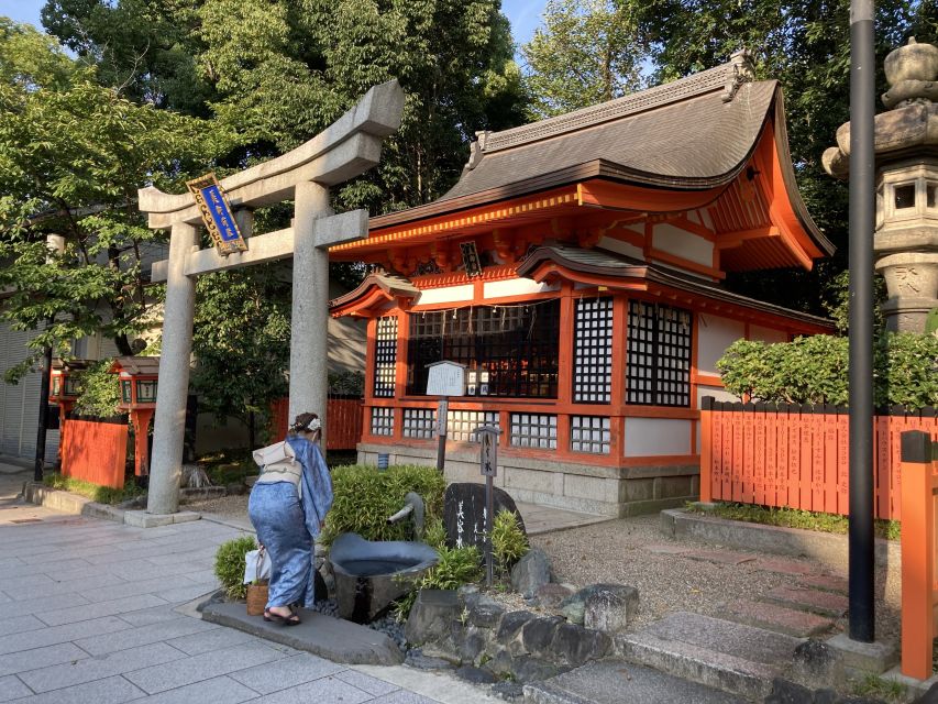
<instances>
[{"instance_id":1,"label":"short vermilion fence panel left of the torii's left pillar","mask_svg":"<svg viewBox=\"0 0 938 704\"><path fill-rule=\"evenodd\" d=\"M123 488L128 424L66 419L59 441L62 474Z\"/></svg>"}]
</instances>

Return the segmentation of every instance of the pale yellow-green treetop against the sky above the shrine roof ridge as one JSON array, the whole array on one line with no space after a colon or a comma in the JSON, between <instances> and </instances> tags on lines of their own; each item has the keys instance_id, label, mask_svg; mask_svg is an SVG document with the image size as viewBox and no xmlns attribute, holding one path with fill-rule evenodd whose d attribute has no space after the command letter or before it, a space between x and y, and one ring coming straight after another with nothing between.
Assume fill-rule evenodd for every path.
<instances>
[{"instance_id":1,"label":"pale yellow-green treetop against the sky above the shrine roof ridge","mask_svg":"<svg viewBox=\"0 0 938 704\"><path fill-rule=\"evenodd\" d=\"M522 47L536 118L636 90L644 52L628 8L614 0L550 0L544 25Z\"/></svg>"}]
</instances>

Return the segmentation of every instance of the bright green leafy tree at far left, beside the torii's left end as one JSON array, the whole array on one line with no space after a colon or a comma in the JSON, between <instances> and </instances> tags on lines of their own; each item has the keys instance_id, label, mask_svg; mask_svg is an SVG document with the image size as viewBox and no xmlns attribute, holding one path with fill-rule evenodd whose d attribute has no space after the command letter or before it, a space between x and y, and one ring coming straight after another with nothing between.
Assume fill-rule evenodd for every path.
<instances>
[{"instance_id":1,"label":"bright green leafy tree at far left, beside the torii's left end","mask_svg":"<svg viewBox=\"0 0 938 704\"><path fill-rule=\"evenodd\" d=\"M5 19L0 56L0 288L9 294L0 316L40 331L8 380L42 349L67 354L73 339L99 330L130 354L158 294L147 289L142 263L163 242L145 227L136 190L179 188L187 169L233 136L121 98L93 69ZM63 254L46 249L47 233L65 239Z\"/></svg>"}]
</instances>

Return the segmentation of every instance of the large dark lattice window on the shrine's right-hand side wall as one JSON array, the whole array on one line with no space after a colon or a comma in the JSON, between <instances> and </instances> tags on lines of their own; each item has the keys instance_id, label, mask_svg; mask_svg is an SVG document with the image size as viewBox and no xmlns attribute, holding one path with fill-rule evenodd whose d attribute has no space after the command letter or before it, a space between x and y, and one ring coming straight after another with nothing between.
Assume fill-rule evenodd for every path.
<instances>
[{"instance_id":1,"label":"large dark lattice window on the shrine's right-hand side wall","mask_svg":"<svg viewBox=\"0 0 938 704\"><path fill-rule=\"evenodd\" d=\"M627 403L689 407L691 321L688 310L629 301Z\"/></svg>"}]
</instances>

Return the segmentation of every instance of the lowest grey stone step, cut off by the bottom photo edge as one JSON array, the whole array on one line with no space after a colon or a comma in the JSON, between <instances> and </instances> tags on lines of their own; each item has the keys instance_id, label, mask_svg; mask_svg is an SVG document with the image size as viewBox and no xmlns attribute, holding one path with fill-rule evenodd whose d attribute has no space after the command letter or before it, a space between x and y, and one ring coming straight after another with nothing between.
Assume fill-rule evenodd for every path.
<instances>
[{"instance_id":1,"label":"lowest grey stone step, cut off by the bottom photo edge","mask_svg":"<svg viewBox=\"0 0 938 704\"><path fill-rule=\"evenodd\" d=\"M746 700L621 660L597 660L525 685L533 704L743 704Z\"/></svg>"}]
</instances>

